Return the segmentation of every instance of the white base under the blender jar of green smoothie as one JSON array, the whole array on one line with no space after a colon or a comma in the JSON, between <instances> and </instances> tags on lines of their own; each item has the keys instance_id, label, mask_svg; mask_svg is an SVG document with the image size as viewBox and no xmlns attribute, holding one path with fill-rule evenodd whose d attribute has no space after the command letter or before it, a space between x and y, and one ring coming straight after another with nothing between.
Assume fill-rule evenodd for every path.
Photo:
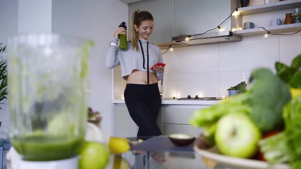
<instances>
[{"instance_id":1,"label":"white base under the blender jar of green smoothie","mask_svg":"<svg viewBox=\"0 0 301 169\"><path fill-rule=\"evenodd\" d=\"M57 161L24 161L20 160L17 169L78 169L79 157Z\"/></svg>"}]
</instances>

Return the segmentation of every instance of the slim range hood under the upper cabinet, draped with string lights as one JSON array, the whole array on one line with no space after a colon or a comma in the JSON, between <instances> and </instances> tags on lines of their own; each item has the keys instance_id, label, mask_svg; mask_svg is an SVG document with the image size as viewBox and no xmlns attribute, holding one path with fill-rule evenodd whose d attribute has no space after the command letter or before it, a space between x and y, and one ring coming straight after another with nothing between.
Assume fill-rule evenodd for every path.
<instances>
[{"instance_id":1,"label":"slim range hood under the upper cabinet, draped with string lights","mask_svg":"<svg viewBox=\"0 0 301 169\"><path fill-rule=\"evenodd\" d=\"M173 44L177 43L184 46L194 46L194 45L204 45L204 44L212 44L212 43L241 41L242 39L239 35L236 35L231 31L220 31L220 32L206 33L203 35L193 35L188 41L185 40L186 38L188 38L188 36L186 35L172 37L172 41Z\"/></svg>"}]
</instances>

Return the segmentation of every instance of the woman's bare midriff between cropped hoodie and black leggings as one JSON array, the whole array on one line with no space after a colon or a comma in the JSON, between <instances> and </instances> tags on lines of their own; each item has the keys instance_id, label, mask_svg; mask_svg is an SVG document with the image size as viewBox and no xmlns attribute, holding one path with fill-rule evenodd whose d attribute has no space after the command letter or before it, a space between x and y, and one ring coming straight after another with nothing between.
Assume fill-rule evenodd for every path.
<instances>
[{"instance_id":1,"label":"woman's bare midriff between cropped hoodie and black leggings","mask_svg":"<svg viewBox=\"0 0 301 169\"><path fill-rule=\"evenodd\" d=\"M156 74L149 72L149 84L158 82ZM132 84L147 84L147 72L140 70L133 70L132 73L128 76L127 83Z\"/></svg>"}]
</instances>

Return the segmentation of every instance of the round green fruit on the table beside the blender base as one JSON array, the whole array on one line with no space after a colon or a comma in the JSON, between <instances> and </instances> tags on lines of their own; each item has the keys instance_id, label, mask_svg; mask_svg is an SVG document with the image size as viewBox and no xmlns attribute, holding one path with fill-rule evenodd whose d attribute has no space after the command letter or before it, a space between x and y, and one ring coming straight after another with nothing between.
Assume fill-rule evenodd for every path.
<instances>
[{"instance_id":1,"label":"round green fruit on the table beside the blender base","mask_svg":"<svg viewBox=\"0 0 301 169\"><path fill-rule=\"evenodd\" d=\"M110 159L109 148L102 143L85 142L80 149L80 169L103 169Z\"/></svg>"}]
</instances>

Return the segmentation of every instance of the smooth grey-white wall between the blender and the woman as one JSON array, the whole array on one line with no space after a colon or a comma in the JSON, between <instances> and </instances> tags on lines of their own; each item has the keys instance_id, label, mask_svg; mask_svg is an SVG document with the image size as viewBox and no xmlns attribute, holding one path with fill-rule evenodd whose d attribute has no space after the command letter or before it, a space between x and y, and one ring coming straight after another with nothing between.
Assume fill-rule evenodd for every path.
<instances>
[{"instance_id":1,"label":"smooth grey-white wall between the blender and the woman","mask_svg":"<svg viewBox=\"0 0 301 169\"><path fill-rule=\"evenodd\" d=\"M95 42L90 62L90 107L101 112L102 127L113 134L112 70L105 66L108 45L118 25L128 20L128 4L118 0L53 0L52 32Z\"/></svg>"}]
</instances>

